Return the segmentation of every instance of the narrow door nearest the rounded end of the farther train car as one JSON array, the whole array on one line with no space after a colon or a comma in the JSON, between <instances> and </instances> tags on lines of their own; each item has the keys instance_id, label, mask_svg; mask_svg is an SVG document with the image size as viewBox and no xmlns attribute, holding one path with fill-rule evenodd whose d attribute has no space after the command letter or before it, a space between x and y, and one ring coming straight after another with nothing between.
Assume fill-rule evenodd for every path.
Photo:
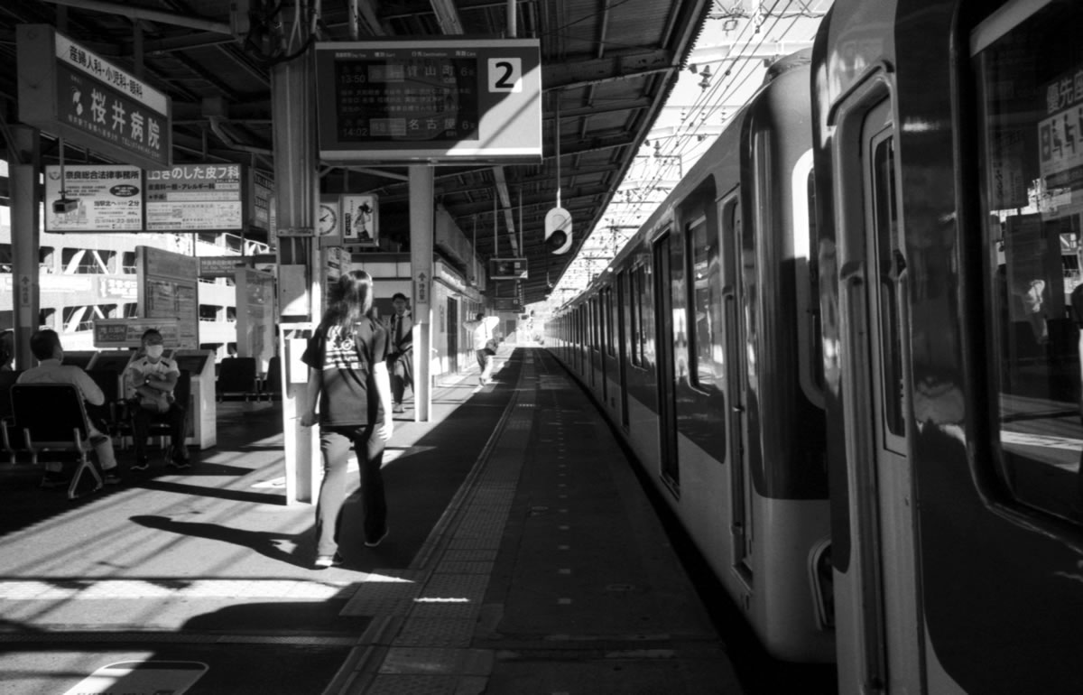
<instances>
[{"instance_id":1,"label":"narrow door nearest the rounded end of the farther train car","mask_svg":"<svg viewBox=\"0 0 1083 695\"><path fill-rule=\"evenodd\" d=\"M722 221L719 248L722 255L722 302L725 303L723 346L726 351L726 414L728 442L726 458L730 463L730 535L732 564L746 581L752 581L753 504L752 476L745 458L748 417L747 352L745 345L743 296L741 291L741 205L734 191L721 206Z\"/></svg>"}]
</instances>

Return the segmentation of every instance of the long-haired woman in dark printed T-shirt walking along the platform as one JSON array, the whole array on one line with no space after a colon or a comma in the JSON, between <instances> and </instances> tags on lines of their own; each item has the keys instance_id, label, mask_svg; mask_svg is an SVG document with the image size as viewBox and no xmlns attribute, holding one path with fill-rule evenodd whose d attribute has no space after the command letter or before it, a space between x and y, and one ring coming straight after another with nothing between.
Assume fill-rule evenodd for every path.
<instances>
[{"instance_id":1,"label":"long-haired woman in dark printed T-shirt walking along the platform","mask_svg":"<svg viewBox=\"0 0 1083 695\"><path fill-rule=\"evenodd\" d=\"M301 355L301 362L309 366L301 425L319 423L324 465L316 504L317 569L342 562L338 547L351 446L361 469L365 545L375 548L388 535L388 506L380 465L383 443L391 438L394 420L388 379L388 333L369 316L371 306L373 278L368 273L353 271L339 277L328 291L323 320Z\"/></svg>"}]
</instances>

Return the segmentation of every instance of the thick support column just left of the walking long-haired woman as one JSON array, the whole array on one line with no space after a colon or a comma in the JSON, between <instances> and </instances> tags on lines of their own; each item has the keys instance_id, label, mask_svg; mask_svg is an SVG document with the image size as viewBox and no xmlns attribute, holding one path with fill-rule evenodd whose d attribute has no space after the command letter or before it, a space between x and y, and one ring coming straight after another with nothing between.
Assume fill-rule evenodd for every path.
<instances>
[{"instance_id":1,"label":"thick support column just left of the walking long-haired woman","mask_svg":"<svg viewBox=\"0 0 1083 695\"><path fill-rule=\"evenodd\" d=\"M286 502L312 502L322 469L313 464L318 428L302 428L308 403L308 368L301 363L306 338L319 320L318 248L310 233L315 226L319 179L316 174L314 53L271 69L274 121L274 189L278 231L278 329L284 370L282 418L286 455Z\"/></svg>"}]
</instances>

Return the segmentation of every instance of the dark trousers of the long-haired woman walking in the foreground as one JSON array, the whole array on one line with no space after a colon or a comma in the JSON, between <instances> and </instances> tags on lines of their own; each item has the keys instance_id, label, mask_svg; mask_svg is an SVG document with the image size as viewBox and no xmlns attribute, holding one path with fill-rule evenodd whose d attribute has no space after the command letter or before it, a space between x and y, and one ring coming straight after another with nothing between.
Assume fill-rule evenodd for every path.
<instances>
[{"instance_id":1,"label":"dark trousers of the long-haired woman walking in the foreground","mask_svg":"<svg viewBox=\"0 0 1083 695\"><path fill-rule=\"evenodd\" d=\"M350 449L361 469L361 500L365 538L376 540L388 524L388 502L383 496L383 440L376 436L376 425L358 428L321 428L319 453L324 459L324 481L316 503L316 554L331 555L338 550L345 502L345 475Z\"/></svg>"}]
</instances>

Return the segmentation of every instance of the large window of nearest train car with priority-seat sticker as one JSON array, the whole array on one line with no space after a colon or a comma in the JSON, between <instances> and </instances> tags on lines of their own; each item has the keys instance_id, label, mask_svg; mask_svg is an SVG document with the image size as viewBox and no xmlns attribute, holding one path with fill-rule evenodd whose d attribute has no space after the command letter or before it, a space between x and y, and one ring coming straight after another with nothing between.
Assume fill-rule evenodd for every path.
<instances>
[{"instance_id":1,"label":"large window of nearest train car with priority-seat sticker","mask_svg":"<svg viewBox=\"0 0 1083 695\"><path fill-rule=\"evenodd\" d=\"M978 25L986 344L999 473L1083 521L1083 5L1009 2ZM1068 257L1068 258L1066 258Z\"/></svg>"}]
</instances>

